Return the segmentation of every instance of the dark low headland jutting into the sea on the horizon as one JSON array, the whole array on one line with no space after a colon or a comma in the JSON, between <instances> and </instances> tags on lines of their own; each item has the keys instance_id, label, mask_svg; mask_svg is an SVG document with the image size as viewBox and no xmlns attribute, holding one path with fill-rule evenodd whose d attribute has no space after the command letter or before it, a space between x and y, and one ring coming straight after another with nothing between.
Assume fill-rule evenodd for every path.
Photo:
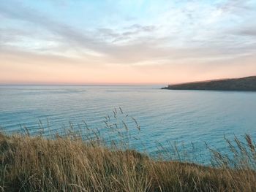
<instances>
[{"instance_id":1,"label":"dark low headland jutting into the sea on the horizon","mask_svg":"<svg viewBox=\"0 0 256 192\"><path fill-rule=\"evenodd\" d=\"M171 90L256 91L256 76L168 85Z\"/></svg>"}]
</instances>

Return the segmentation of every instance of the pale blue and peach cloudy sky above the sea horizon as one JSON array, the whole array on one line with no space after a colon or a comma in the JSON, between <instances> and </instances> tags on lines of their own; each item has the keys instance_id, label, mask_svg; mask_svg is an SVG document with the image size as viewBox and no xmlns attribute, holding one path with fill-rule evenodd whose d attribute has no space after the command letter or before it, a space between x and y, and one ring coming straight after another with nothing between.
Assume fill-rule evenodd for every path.
<instances>
[{"instance_id":1,"label":"pale blue and peach cloudy sky above the sea horizon","mask_svg":"<svg viewBox=\"0 0 256 192\"><path fill-rule=\"evenodd\" d=\"M251 75L255 0L0 0L0 84Z\"/></svg>"}]
</instances>

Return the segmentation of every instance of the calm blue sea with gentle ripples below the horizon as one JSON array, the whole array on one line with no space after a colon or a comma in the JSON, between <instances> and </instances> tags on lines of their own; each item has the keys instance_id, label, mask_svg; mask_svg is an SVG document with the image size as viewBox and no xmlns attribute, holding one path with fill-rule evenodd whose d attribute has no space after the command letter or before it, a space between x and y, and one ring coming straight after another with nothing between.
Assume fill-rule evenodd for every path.
<instances>
[{"instance_id":1,"label":"calm blue sea with gentle ripples below the horizon","mask_svg":"<svg viewBox=\"0 0 256 192\"><path fill-rule=\"evenodd\" d=\"M256 93L223 91L168 91L161 86L0 86L0 126L8 132L20 125L37 131L39 120L59 130L83 124L105 131L105 116L119 107L128 114L132 147L157 151L158 142L195 143L198 154L207 142L225 150L224 134L256 137ZM119 112L120 113L120 112ZM138 133L134 117L140 124ZM123 118L123 117L121 117ZM49 123L48 123L49 122ZM132 138L131 137L131 138ZM141 145L143 142L143 145ZM205 153L202 153L205 154Z\"/></svg>"}]
</instances>

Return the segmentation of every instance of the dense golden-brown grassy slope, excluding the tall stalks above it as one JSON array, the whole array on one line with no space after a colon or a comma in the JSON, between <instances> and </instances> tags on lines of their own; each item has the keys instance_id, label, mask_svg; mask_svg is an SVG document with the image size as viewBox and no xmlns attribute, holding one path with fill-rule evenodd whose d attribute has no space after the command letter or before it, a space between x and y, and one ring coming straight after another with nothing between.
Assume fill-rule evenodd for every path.
<instances>
[{"instance_id":1,"label":"dense golden-brown grassy slope, excluding the tall stalks above it","mask_svg":"<svg viewBox=\"0 0 256 192\"><path fill-rule=\"evenodd\" d=\"M256 154L255 145L246 140ZM110 150L71 137L44 139L0 134L0 162L2 191L255 191L256 188L256 174L246 166L211 168L153 161L134 150Z\"/></svg>"}]
</instances>

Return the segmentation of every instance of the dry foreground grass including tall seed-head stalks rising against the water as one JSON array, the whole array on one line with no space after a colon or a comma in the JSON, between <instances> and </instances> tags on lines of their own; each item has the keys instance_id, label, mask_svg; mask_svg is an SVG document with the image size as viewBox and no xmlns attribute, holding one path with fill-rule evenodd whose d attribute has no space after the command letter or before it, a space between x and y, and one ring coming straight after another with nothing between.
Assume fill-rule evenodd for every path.
<instances>
[{"instance_id":1,"label":"dry foreground grass including tall seed-head stalks rising against the water","mask_svg":"<svg viewBox=\"0 0 256 192\"><path fill-rule=\"evenodd\" d=\"M118 110L105 117L109 137L85 122L83 130L70 123L48 137L41 121L34 136L28 128L0 134L0 191L256 191L256 145L249 135L244 142L225 138L229 155L208 147L212 166L166 161L161 154L153 160L130 149L129 116L120 112L121 118Z\"/></svg>"}]
</instances>

